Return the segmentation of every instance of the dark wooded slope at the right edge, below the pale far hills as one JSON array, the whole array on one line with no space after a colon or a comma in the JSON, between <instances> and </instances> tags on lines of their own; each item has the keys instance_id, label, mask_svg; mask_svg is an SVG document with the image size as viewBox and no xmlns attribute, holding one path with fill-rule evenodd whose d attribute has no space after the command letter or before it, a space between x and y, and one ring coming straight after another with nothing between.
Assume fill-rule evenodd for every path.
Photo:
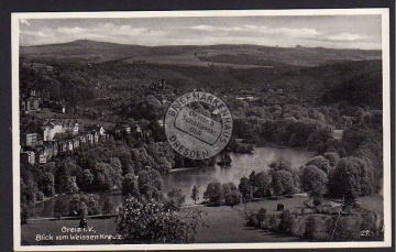
<instances>
[{"instance_id":1,"label":"dark wooded slope at the right edge, below the pale far hills","mask_svg":"<svg viewBox=\"0 0 396 252\"><path fill-rule=\"evenodd\" d=\"M345 101L382 109L382 62L361 61L329 64L287 72L271 86L285 92L315 97L319 105Z\"/></svg>"}]
</instances>

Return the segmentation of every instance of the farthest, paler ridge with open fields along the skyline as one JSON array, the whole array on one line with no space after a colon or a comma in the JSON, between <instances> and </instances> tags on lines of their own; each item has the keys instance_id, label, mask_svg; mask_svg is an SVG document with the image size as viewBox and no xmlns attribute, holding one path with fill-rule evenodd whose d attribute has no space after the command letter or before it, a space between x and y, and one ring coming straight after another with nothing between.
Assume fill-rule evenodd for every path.
<instances>
[{"instance_id":1,"label":"farthest, paler ridge with open fields along the skyline","mask_svg":"<svg viewBox=\"0 0 396 252\"><path fill-rule=\"evenodd\" d=\"M21 46L29 59L99 63L125 61L131 64L232 66L234 68L280 65L317 66L345 61L381 59L381 51L322 47L270 47L258 45L140 46L88 40L64 44Z\"/></svg>"}]
</instances>

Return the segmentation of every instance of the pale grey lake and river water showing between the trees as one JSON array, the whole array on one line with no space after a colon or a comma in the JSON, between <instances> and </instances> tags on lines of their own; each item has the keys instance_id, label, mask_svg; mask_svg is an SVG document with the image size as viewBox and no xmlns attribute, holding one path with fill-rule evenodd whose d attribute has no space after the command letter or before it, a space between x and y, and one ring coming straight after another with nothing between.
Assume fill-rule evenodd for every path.
<instances>
[{"instance_id":1,"label":"pale grey lake and river water showing between the trees","mask_svg":"<svg viewBox=\"0 0 396 252\"><path fill-rule=\"evenodd\" d=\"M285 158L292 163L293 167L298 168L314 156L314 153L292 149L256 147L254 149L254 154L230 153L230 156L232 160L231 166L222 167L215 165L213 167L195 168L163 175L164 193L169 191L173 187L179 187L186 195L186 204L194 204L194 200L190 198L194 185L197 185L201 200L207 185L212 180L219 180L220 183L233 182L238 186L241 177L249 176L252 171L267 171L270 168L268 165L273 161ZM100 196L100 206L102 206L108 197L111 198L116 206L120 205L123 199L120 193L97 194ZM68 202L72 195L59 197ZM54 204L55 200L37 204L31 216L53 217Z\"/></svg>"}]
</instances>

